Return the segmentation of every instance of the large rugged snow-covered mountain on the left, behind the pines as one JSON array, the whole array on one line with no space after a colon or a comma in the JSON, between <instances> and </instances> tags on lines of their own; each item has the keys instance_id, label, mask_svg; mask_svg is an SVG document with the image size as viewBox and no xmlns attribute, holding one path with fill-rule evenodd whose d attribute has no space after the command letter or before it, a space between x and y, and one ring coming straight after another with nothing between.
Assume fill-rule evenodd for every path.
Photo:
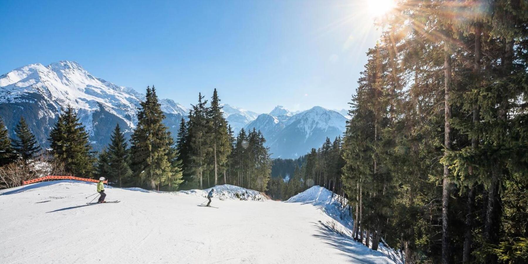
<instances>
[{"instance_id":1,"label":"large rugged snow-covered mountain on the left, behind the pines","mask_svg":"<svg viewBox=\"0 0 528 264\"><path fill-rule=\"evenodd\" d=\"M24 116L37 140L47 145L48 135L61 108L72 106L98 150L110 140L115 124L130 133L144 94L91 75L77 62L60 61L44 66L30 64L0 75L0 116L10 134ZM188 110L173 100L161 100L165 124L176 135Z\"/></svg>"}]
</instances>

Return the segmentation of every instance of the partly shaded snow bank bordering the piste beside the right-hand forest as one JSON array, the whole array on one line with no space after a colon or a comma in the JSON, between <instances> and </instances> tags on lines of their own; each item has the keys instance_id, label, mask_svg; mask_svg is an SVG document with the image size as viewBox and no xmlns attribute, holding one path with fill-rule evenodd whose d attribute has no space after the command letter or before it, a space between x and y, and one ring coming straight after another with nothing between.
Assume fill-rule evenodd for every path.
<instances>
[{"instance_id":1,"label":"partly shaded snow bank bordering the piste beside the right-hand forest","mask_svg":"<svg viewBox=\"0 0 528 264\"><path fill-rule=\"evenodd\" d=\"M388 257L392 259L395 263L403 264L398 254L394 252L393 249L386 248L381 242L379 244L378 251L374 251L372 249L364 247L362 243L356 242L352 239L352 229L354 227L354 222L350 214L348 214L348 209L346 207L341 207L341 203L338 202L338 197L339 195L337 194L334 194L332 196L332 192L324 187L313 186L312 188L304 192L294 195L285 202L312 204L313 206L321 210L323 213L325 213L328 217L331 217L334 221L336 221L336 223L321 222L322 225L329 231L333 230L337 233L341 233L343 235L343 241L349 243L351 247L359 246L362 247L361 250L364 250L365 252L372 253L375 256L377 255L380 257ZM346 203L347 200L345 199L345 204Z\"/></svg>"}]
</instances>

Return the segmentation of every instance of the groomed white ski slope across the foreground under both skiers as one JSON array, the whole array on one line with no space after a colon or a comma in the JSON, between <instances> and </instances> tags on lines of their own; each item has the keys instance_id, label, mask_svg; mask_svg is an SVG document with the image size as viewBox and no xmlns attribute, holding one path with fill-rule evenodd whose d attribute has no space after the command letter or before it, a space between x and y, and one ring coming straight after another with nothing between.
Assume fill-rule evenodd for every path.
<instances>
[{"instance_id":1,"label":"groomed white ski slope across the foreground under both skiers","mask_svg":"<svg viewBox=\"0 0 528 264\"><path fill-rule=\"evenodd\" d=\"M232 185L223 187L230 189ZM217 187L219 188L219 187ZM319 188L319 187L314 187ZM221 188L222 189L222 188ZM233 192L242 188L231 188ZM52 181L0 190L2 263L394 263L352 241L332 201L213 198L199 192L107 188ZM245 190L245 189L244 189ZM309 189L307 191L314 191ZM327 191L327 190L325 190ZM249 192L249 191L248 191ZM317 192L317 191L315 191ZM205 193L205 192L204 192ZM319 192L320 194L320 192ZM319 195L319 197L323 197ZM328 197L327 197L328 198ZM332 228L331 228L332 227Z\"/></svg>"}]
</instances>

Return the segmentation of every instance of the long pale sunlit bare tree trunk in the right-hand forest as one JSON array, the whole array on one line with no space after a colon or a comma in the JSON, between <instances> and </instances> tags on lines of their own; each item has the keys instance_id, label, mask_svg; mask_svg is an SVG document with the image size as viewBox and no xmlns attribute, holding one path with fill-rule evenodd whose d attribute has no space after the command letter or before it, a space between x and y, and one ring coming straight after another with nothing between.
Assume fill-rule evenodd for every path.
<instances>
[{"instance_id":1,"label":"long pale sunlit bare tree trunk in the right-hand forest","mask_svg":"<svg viewBox=\"0 0 528 264\"><path fill-rule=\"evenodd\" d=\"M449 42L446 40L444 43L444 78L445 78L445 117L444 117L444 145L446 150L444 151L444 157L447 156L448 151L451 150L451 105L450 91L451 91L451 48ZM449 166L444 165L444 177L442 180L442 264L450 262L451 251L449 248L449 195L450 195L450 182L449 182Z\"/></svg>"}]
</instances>

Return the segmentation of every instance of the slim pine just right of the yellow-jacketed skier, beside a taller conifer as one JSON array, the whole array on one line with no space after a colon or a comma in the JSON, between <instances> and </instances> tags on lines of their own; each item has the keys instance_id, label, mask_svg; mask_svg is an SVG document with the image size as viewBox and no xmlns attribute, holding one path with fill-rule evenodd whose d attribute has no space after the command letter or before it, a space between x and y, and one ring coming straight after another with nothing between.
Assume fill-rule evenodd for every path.
<instances>
[{"instance_id":1,"label":"slim pine just right of the yellow-jacketed skier, beside a taller conifer","mask_svg":"<svg viewBox=\"0 0 528 264\"><path fill-rule=\"evenodd\" d=\"M132 175L132 171L129 167L130 160L127 142L125 135L121 132L119 124L116 125L114 133L110 137L108 156L110 161L108 179L117 180L119 187L122 187L123 182L126 182Z\"/></svg>"}]
</instances>

